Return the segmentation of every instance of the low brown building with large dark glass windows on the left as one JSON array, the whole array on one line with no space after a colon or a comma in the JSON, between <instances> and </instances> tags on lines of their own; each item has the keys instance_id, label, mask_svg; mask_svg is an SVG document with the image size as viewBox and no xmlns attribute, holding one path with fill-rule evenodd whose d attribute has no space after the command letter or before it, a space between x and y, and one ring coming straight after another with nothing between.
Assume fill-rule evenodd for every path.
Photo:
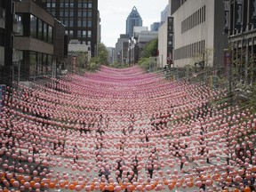
<instances>
[{"instance_id":1,"label":"low brown building with large dark glass windows on the left","mask_svg":"<svg viewBox=\"0 0 256 192\"><path fill-rule=\"evenodd\" d=\"M15 4L20 16L20 33L14 36L14 55L18 63L19 81L35 81L42 76L56 76L57 69L67 56L65 28L52 14L33 0Z\"/></svg>"}]
</instances>

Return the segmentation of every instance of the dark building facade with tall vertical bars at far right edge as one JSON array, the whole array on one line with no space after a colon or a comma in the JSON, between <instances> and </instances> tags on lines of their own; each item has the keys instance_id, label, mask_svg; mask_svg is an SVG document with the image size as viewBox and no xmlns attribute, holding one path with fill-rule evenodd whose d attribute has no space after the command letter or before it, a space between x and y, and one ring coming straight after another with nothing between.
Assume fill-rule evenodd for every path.
<instances>
[{"instance_id":1,"label":"dark building facade with tall vertical bars at far right edge","mask_svg":"<svg viewBox=\"0 0 256 192\"><path fill-rule=\"evenodd\" d=\"M256 81L256 1L231 0L228 39L232 51L230 65L242 84ZM227 18L228 20L228 18Z\"/></svg>"}]
</instances>

